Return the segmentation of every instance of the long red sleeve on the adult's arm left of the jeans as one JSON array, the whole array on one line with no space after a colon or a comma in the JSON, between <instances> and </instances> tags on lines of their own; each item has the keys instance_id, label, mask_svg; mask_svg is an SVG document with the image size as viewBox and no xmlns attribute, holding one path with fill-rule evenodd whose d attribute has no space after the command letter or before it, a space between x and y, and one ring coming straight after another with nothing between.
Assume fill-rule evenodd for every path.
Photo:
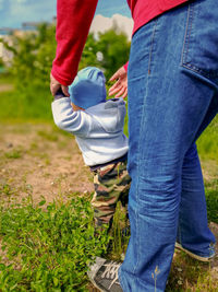
<instances>
[{"instance_id":1,"label":"long red sleeve on the adult's arm left of the jeans","mask_svg":"<svg viewBox=\"0 0 218 292\"><path fill-rule=\"evenodd\" d=\"M51 73L62 84L74 80L98 0L57 1L57 51Z\"/></svg>"}]
</instances>

